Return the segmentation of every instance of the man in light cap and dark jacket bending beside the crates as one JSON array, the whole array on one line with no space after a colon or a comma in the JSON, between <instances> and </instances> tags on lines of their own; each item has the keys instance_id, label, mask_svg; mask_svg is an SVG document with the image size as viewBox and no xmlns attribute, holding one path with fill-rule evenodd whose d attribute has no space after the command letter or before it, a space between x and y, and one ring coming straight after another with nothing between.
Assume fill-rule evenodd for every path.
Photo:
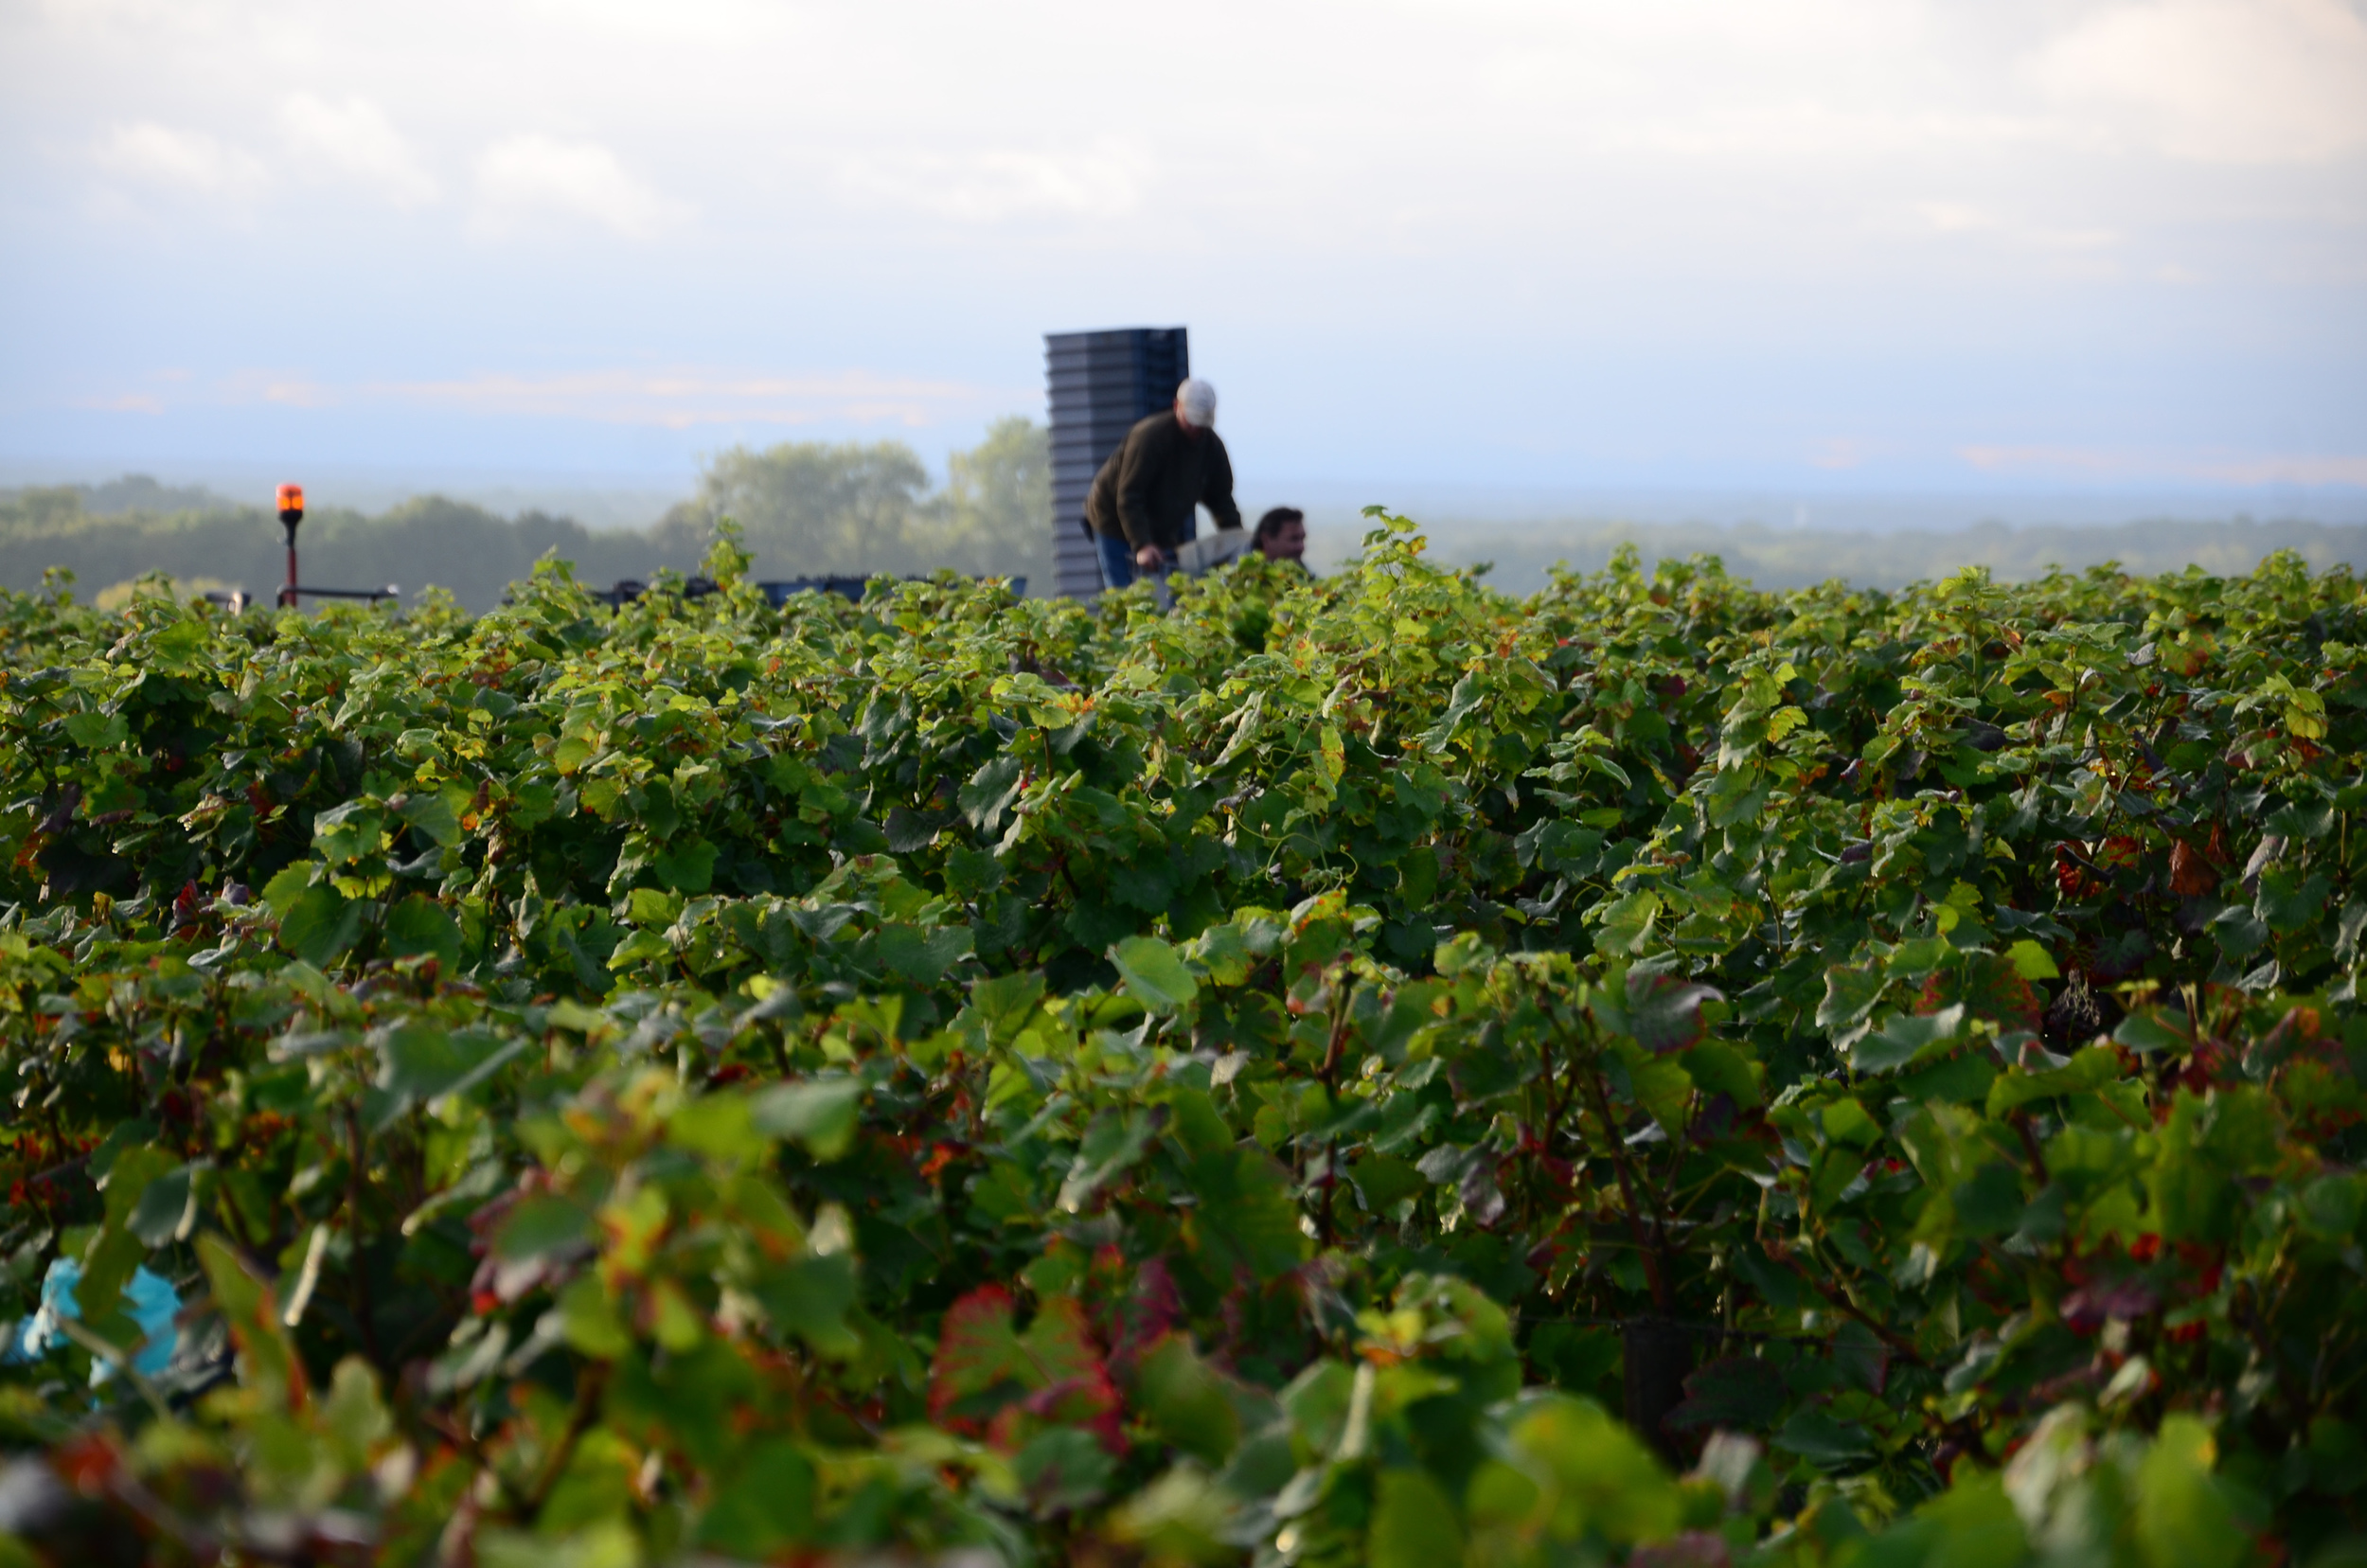
<instances>
[{"instance_id":1,"label":"man in light cap and dark jacket bending beside the crates","mask_svg":"<svg viewBox=\"0 0 2367 1568\"><path fill-rule=\"evenodd\" d=\"M1219 528L1240 528L1233 460L1217 436L1217 388L1200 377L1176 388L1172 410L1127 431L1094 476L1084 521L1101 550L1101 580L1127 587L1136 571L1172 566L1176 545L1198 533L1195 507L1207 507Z\"/></svg>"}]
</instances>

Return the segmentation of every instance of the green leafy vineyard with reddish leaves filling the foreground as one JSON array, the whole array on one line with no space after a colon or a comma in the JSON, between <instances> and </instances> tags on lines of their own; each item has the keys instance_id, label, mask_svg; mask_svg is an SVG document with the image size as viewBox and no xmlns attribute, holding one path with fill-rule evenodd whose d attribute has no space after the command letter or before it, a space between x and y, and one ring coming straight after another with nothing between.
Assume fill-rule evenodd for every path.
<instances>
[{"instance_id":1,"label":"green leafy vineyard with reddish leaves filling the foreground","mask_svg":"<svg viewBox=\"0 0 2367 1568\"><path fill-rule=\"evenodd\" d=\"M2367 1551L2367 602L0 597L0 1568Z\"/></svg>"}]
</instances>

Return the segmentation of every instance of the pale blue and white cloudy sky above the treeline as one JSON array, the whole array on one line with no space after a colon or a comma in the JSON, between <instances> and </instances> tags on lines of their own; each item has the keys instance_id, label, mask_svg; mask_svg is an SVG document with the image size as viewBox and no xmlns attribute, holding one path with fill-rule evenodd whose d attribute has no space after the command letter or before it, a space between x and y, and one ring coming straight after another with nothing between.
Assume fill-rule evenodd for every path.
<instances>
[{"instance_id":1,"label":"pale blue and white cloudy sky above the treeline","mask_svg":"<svg viewBox=\"0 0 2367 1568\"><path fill-rule=\"evenodd\" d=\"M2367 486L2367 0L0 0L0 462ZM92 474L97 476L97 474Z\"/></svg>"}]
</instances>

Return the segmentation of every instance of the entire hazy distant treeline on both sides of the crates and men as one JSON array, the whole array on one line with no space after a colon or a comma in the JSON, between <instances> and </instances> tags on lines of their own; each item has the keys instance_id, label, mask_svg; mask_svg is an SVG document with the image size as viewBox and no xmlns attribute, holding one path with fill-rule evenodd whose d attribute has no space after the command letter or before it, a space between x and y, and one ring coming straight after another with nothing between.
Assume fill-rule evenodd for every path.
<instances>
[{"instance_id":1,"label":"entire hazy distant treeline on both sides of the crates and men","mask_svg":"<svg viewBox=\"0 0 2367 1568\"><path fill-rule=\"evenodd\" d=\"M483 611L544 554L573 561L594 585L646 580L660 568L689 573L722 516L746 531L762 578L954 568L1025 576L1039 595L1051 587L1051 452L1044 429L1027 419L1004 419L980 445L954 452L940 490L899 441L731 448L712 457L698 490L651 528L594 531L544 512L499 516L436 495L376 516L331 505L303 523L303 578L317 587L400 583L405 597L438 585ZM2272 550L2294 550L2315 571L2367 571L2367 523L2237 519L1811 533L1756 523L1418 521L1439 559L1489 561L1489 583L1513 595L1546 587L1555 564L1598 571L1621 545L1636 545L1645 561L1716 554L1730 576L1771 590L1830 578L1898 587L1960 566L1988 566L2000 580L2021 580L2050 566L2081 571L2104 561L2133 573L2197 564L2242 576ZM1361 535L1363 528L1318 528L1309 561L1318 571L1335 566ZM47 568L64 566L83 599L154 571L182 585L246 587L267 599L284 576L282 564L279 523L265 509L206 490L125 476L104 486L0 493L0 585L7 587L40 587Z\"/></svg>"}]
</instances>

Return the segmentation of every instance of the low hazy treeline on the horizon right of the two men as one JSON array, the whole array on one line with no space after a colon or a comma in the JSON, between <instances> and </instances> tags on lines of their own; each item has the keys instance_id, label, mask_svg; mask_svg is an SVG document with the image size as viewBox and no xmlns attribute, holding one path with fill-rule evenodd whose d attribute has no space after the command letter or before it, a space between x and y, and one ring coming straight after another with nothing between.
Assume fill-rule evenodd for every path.
<instances>
[{"instance_id":1,"label":"low hazy treeline on the horizon right of the two men","mask_svg":"<svg viewBox=\"0 0 2367 1568\"><path fill-rule=\"evenodd\" d=\"M2362 505L2367 509L2367 505ZM1354 535L1318 540L1340 554ZM2047 568L2081 571L2118 561L2130 573L2201 566L2218 576L2244 576L2275 550L2291 550L2313 571L2353 566L2367 571L2367 523L2303 523L2249 519L2225 523L2133 521L2116 526L2010 528L1979 523L1953 533L1808 533L1742 523L1484 523L1430 528L1432 550L1446 561L1489 561L1489 583L1527 595L1550 583L1555 564L1600 571L1621 545L1650 564L1662 557L1714 554L1726 571L1759 587L1806 587L1842 578L1860 587L1929 583L1960 566L1988 566L1998 580L2043 578Z\"/></svg>"}]
</instances>

